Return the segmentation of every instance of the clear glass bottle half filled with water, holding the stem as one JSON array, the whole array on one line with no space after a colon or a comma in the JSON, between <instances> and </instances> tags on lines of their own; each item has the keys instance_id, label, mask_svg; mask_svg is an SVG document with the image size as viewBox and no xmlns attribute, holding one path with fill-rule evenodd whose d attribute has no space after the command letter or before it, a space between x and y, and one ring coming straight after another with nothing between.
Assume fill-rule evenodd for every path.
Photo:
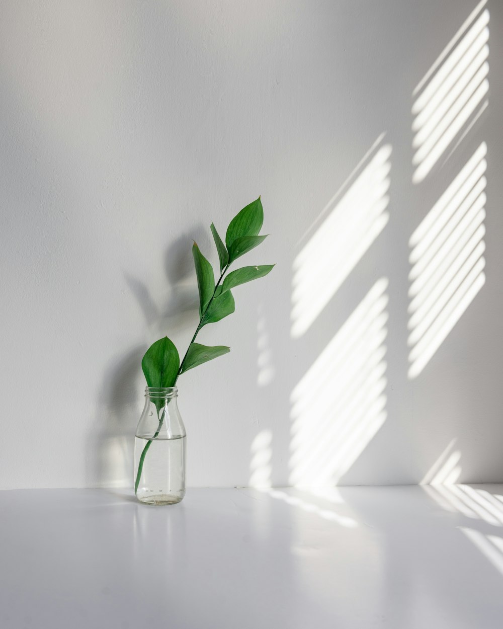
<instances>
[{"instance_id":1,"label":"clear glass bottle half filled with water, holding the stem","mask_svg":"<svg viewBox=\"0 0 503 629\"><path fill-rule=\"evenodd\" d=\"M135 438L135 494L141 503L175 504L185 496L187 435L177 387L146 387Z\"/></svg>"}]
</instances>

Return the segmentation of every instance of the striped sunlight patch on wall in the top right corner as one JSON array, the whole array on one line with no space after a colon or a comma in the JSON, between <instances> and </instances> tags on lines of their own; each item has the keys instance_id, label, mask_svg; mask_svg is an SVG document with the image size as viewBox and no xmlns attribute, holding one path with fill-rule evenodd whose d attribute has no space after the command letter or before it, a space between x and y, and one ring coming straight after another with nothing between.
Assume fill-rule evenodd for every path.
<instances>
[{"instance_id":1,"label":"striped sunlight patch on wall in the top right corner","mask_svg":"<svg viewBox=\"0 0 503 629\"><path fill-rule=\"evenodd\" d=\"M489 11L480 13L484 5L485 1L472 11L414 90L413 96L419 94L412 106L416 184L487 107Z\"/></svg>"}]
</instances>

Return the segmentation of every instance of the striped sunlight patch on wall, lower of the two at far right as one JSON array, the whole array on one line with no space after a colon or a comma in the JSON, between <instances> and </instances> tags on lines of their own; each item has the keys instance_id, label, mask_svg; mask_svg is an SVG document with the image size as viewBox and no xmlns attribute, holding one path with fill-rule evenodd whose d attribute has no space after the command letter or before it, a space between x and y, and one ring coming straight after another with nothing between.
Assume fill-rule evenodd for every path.
<instances>
[{"instance_id":1,"label":"striped sunlight patch on wall, lower of the two at far right","mask_svg":"<svg viewBox=\"0 0 503 629\"><path fill-rule=\"evenodd\" d=\"M423 371L485 283L483 142L409 240L409 378Z\"/></svg>"}]
</instances>

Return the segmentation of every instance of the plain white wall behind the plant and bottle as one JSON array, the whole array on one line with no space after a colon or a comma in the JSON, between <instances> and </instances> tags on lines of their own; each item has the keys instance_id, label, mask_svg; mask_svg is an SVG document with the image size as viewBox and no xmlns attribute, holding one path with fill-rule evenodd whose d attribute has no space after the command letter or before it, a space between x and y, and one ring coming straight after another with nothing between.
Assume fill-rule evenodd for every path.
<instances>
[{"instance_id":1,"label":"plain white wall behind the plant and bottle","mask_svg":"<svg viewBox=\"0 0 503 629\"><path fill-rule=\"evenodd\" d=\"M201 332L231 353L179 381L189 484L417 483L443 452L459 481L502 481L503 5L487 6L489 106L413 183L412 92L473 0L1 3L0 487L131 485L141 356L165 334L184 352L197 325L192 238L216 262L209 224L258 194L271 235L243 264L277 267ZM378 138L360 170L392 148L389 220L328 290L363 238L346 222L366 193L338 206L360 170L329 202ZM409 379L408 241L482 142L485 285ZM292 337L302 250L297 315L328 303ZM380 278L387 321L341 357L329 342ZM369 343L384 328L383 358ZM334 391L365 352L384 389L348 381L341 415ZM358 428L362 391L375 412Z\"/></svg>"}]
</instances>

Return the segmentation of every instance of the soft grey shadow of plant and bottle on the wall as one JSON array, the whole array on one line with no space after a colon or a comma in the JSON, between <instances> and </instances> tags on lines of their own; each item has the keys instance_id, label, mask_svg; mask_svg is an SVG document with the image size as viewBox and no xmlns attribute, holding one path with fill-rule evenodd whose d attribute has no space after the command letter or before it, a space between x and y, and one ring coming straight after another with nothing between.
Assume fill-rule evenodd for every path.
<instances>
[{"instance_id":1,"label":"soft grey shadow of plant and bottle on the wall","mask_svg":"<svg viewBox=\"0 0 503 629\"><path fill-rule=\"evenodd\" d=\"M205 237L202 225L192 235ZM160 307L144 282L124 271L124 280L135 296L145 318L148 336L162 335L169 327L176 333L191 328L197 317L199 300L192 271L192 255L184 234L166 250L167 295ZM147 343L135 345L114 359L102 377L96 409L96 430L88 448L88 482L101 487L129 486L133 476L134 443L131 435L141 411L140 363Z\"/></svg>"}]
</instances>

